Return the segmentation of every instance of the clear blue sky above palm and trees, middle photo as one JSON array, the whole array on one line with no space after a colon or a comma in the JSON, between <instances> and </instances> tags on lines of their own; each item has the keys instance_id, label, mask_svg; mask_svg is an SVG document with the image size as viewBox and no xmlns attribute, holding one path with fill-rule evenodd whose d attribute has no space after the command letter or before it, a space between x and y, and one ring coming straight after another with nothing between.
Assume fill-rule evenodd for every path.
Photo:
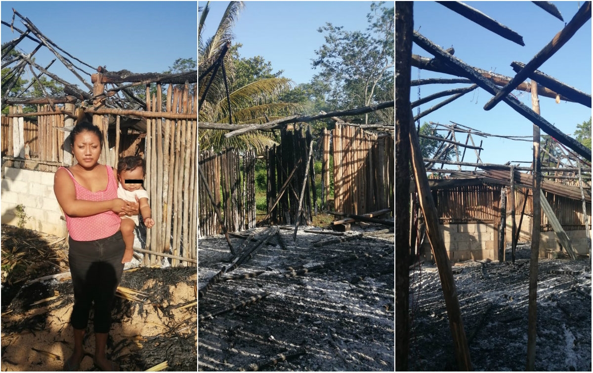
<instances>
[{"instance_id":1,"label":"clear blue sky above palm and trees, middle photo","mask_svg":"<svg viewBox=\"0 0 593 373\"><path fill-rule=\"evenodd\" d=\"M205 7L206 1L198 4ZM227 6L228 1L210 2L202 37L212 36ZM274 72L284 70L286 78L307 83L318 73L311 60L324 43L317 29L330 22L347 31L365 31L370 11L370 1L246 1L232 30L235 43L243 44L241 57L262 56L272 62Z\"/></svg>"}]
</instances>

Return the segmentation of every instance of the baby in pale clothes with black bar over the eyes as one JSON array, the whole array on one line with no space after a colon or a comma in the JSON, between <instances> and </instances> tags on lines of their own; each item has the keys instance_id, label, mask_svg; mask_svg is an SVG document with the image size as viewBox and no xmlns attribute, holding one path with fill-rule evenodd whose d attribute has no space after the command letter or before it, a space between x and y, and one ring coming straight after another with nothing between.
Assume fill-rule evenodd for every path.
<instances>
[{"instance_id":1,"label":"baby in pale clothes with black bar over the eyes","mask_svg":"<svg viewBox=\"0 0 593 373\"><path fill-rule=\"evenodd\" d=\"M146 228L154 226L154 220L151 217L150 206L148 205L148 192L142 188L144 179L145 162L144 159L137 156L123 157L117 163L117 178L119 186L117 187L117 197L122 200L136 202L138 197L139 210L144 220ZM138 216L122 216L123 242L126 244L126 251L123 254L122 263L132 260L134 245L134 229L138 225Z\"/></svg>"}]
</instances>

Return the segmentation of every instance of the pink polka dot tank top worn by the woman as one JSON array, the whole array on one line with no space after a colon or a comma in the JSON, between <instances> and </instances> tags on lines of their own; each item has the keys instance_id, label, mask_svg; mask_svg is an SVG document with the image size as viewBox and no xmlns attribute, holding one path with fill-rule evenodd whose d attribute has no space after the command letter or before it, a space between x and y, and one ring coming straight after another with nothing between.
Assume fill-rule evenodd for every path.
<instances>
[{"instance_id":1,"label":"pink polka dot tank top worn by the woman","mask_svg":"<svg viewBox=\"0 0 593 373\"><path fill-rule=\"evenodd\" d=\"M106 201L117 198L117 183L113 178L113 169L109 166L105 166L105 168L107 169L109 182L107 182L107 188L105 190L98 192L91 192L84 186L78 184L78 181L76 181L70 170L65 168L74 182L76 188L76 200ZM93 241L113 236L113 234L119 230L121 223L120 217L113 211L106 211L104 213L85 217L71 217L66 213L64 213L64 216L66 217L68 233L70 234L70 237L76 241Z\"/></svg>"}]
</instances>

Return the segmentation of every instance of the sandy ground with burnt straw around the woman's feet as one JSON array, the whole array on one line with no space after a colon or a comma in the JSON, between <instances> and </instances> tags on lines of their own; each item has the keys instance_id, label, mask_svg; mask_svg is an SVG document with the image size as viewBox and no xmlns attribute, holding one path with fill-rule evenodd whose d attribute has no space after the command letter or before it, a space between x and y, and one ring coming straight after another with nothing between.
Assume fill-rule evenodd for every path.
<instances>
[{"instance_id":1,"label":"sandy ground with burnt straw around the woman's feet","mask_svg":"<svg viewBox=\"0 0 593 373\"><path fill-rule=\"evenodd\" d=\"M164 371L193 371L196 306L181 307L196 301L196 268L136 269L124 273L121 285L148 295L142 302L117 298L108 356L122 371L144 371L164 361L169 366ZM38 282L21 290L2 314L2 371L61 370L72 352L68 321L73 301L69 280ZM90 321L81 371L98 370L92 330Z\"/></svg>"}]
</instances>

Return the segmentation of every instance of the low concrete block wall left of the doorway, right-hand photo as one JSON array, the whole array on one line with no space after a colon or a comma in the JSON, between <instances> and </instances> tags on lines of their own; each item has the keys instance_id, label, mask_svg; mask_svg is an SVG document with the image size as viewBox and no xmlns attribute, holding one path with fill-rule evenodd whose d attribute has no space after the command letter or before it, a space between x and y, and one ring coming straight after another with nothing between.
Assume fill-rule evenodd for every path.
<instances>
[{"instance_id":1,"label":"low concrete block wall left of the doorway, right-hand photo","mask_svg":"<svg viewBox=\"0 0 593 373\"><path fill-rule=\"evenodd\" d=\"M492 223L441 224L439 233L451 262L498 259L498 231ZM428 238L424 240L422 250L427 259L432 259Z\"/></svg>"}]
</instances>

